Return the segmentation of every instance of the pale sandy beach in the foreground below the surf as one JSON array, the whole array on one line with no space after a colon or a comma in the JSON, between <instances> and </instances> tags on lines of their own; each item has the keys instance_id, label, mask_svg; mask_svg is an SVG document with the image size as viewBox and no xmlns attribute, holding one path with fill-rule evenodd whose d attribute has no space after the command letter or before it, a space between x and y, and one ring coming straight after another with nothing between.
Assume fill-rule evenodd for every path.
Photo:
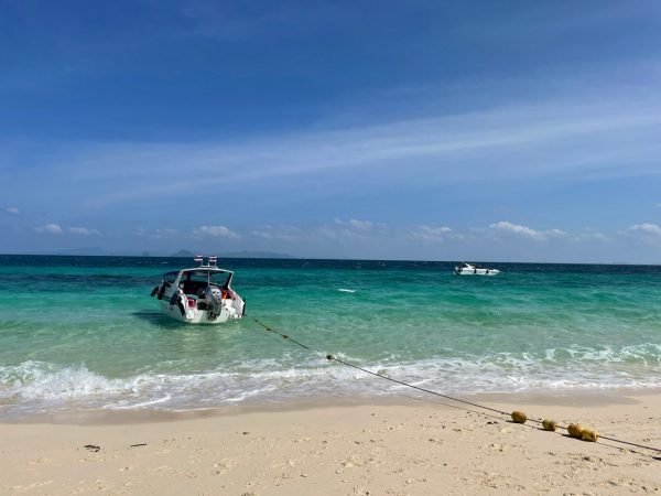
<instances>
[{"instance_id":1,"label":"pale sandy beach in the foreground below the surf","mask_svg":"<svg viewBox=\"0 0 661 496\"><path fill-rule=\"evenodd\" d=\"M476 399L661 446L659 393ZM101 411L2 423L0 493L661 494L661 460L652 457L661 453L578 441L433 401L397 401Z\"/></svg>"}]
</instances>

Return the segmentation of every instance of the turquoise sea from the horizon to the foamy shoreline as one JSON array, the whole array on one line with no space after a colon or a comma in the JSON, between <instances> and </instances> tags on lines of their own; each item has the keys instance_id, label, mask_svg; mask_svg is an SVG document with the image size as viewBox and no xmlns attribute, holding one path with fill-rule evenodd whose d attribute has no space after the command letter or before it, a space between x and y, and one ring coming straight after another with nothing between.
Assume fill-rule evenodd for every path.
<instances>
[{"instance_id":1,"label":"turquoise sea from the horizon to the foamy shoreline","mask_svg":"<svg viewBox=\"0 0 661 496\"><path fill-rule=\"evenodd\" d=\"M0 256L0 417L397 391L661 387L661 267L228 259L251 319L192 326L149 296L192 260Z\"/></svg>"}]
</instances>

